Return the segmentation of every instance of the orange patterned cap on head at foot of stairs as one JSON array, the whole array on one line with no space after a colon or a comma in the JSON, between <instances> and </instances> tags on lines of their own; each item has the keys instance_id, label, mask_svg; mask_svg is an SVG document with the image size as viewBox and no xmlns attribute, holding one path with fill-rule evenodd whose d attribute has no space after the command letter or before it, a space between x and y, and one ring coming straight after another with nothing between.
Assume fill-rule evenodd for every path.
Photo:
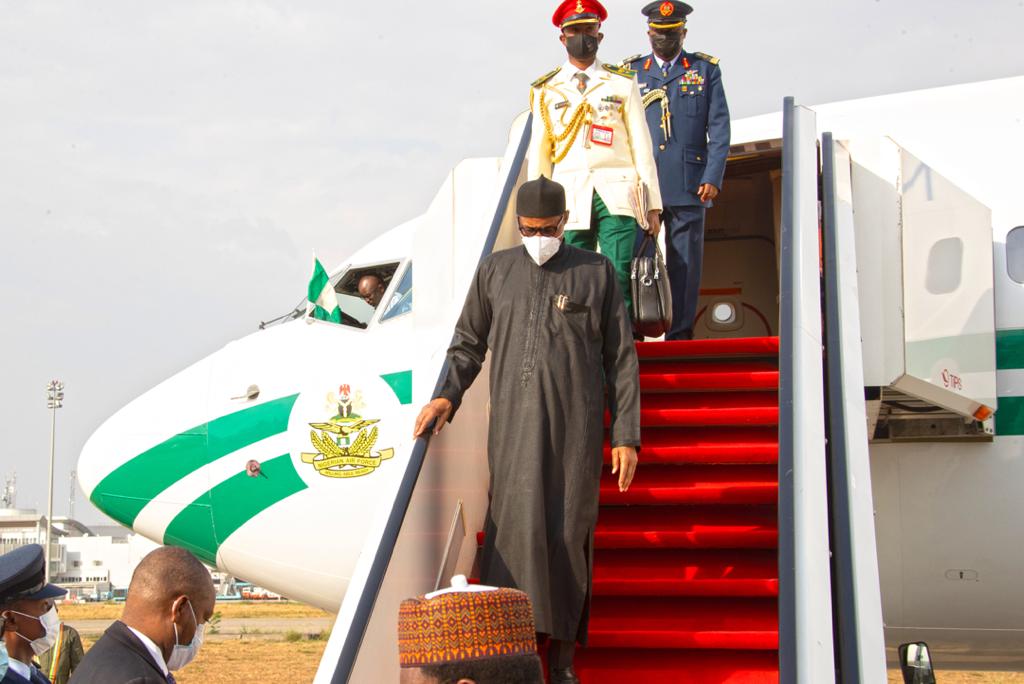
<instances>
[{"instance_id":1,"label":"orange patterned cap on head at foot of stairs","mask_svg":"<svg viewBox=\"0 0 1024 684\"><path fill-rule=\"evenodd\" d=\"M462 576L453 578L453 585L401 602L402 668L537 654L529 597L514 589L468 587Z\"/></svg>"}]
</instances>

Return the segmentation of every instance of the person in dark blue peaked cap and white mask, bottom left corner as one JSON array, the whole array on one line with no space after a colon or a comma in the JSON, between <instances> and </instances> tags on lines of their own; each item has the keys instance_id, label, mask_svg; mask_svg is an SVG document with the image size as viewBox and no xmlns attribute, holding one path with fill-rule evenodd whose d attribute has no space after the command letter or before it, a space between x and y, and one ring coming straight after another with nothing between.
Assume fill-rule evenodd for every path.
<instances>
[{"instance_id":1,"label":"person in dark blue peaked cap and white mask, bottom left corner","mask_svg":"<svg viewBox=\"0 0 1024 684\"><path fill-rule=\"evenodd\" d=\"M60 618L53 599L67 593L46 582L46 558L38 544L0 556L0 630L8 655L0 684L49 684L33 658L56 642Z\"/></svg>"}]
</instances>

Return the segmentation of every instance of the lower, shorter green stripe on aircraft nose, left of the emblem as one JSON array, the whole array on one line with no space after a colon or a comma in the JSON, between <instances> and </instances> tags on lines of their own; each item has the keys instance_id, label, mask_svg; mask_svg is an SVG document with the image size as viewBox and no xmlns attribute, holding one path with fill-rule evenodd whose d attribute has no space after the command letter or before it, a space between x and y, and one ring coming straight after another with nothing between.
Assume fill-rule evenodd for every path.
<instances>
[{"instance_id":1,"label":"lower, shorter green stripe on aircraft nose, left of the emblem","mask_svg":"<svg viewBox=\"0 0 1024 684\"><path fill-rule=\"evenodd\" d=\"M306 488L288 454L260 465L260 475L232 475L186 506L167 526L164 544L183 547L211 565L239 527Z\"/></svg>"}]
</instances>

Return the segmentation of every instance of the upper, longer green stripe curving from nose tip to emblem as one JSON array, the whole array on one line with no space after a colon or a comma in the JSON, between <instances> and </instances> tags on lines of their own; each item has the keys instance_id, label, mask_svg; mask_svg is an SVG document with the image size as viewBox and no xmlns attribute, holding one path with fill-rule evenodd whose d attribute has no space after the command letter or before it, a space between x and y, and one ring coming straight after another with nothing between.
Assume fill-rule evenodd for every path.
<instances>
[{"instance_id":1,"label":"upper, longer green stripe curving from nose tip to emblem","mask_svg":"<svg viewBox=\"0 0 1024 684\"><path fill-rule=\"evenodd\" d=\"M228 414L174 435L104 477L89 499L131 527L161 491L205 465L288 429L298 394Z\"/></svg>"}]
</instances>

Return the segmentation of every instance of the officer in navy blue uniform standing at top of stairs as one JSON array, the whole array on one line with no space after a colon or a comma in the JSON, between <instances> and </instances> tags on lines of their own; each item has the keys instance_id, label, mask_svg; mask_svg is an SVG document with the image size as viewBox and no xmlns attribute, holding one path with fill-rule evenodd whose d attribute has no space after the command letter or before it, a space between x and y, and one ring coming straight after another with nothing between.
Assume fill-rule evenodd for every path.
<instances>
[{"instance_id":1,"label":"officer in navy blue uniform standing at top of stairs","mask_svg":"<svg viewBox=\"0 0 1024 684\"><path fill-rule=\"evenodd\" d=\"M654 144L672 283L670 340L693 337L705 210L722 188L729 154L729 105L718 58L686 52L685 2L666 0L643 8L652 53L624 63L637 73Z\"/></svg>"}]
</instances>

